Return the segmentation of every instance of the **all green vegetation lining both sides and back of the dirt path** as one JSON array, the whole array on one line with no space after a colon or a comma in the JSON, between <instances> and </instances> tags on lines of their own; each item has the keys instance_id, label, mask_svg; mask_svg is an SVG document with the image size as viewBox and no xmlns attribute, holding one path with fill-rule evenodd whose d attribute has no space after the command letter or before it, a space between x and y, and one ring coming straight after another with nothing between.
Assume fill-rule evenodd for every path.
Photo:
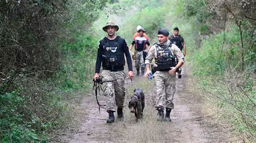
<instances>
[{"instance_id":1,"label":"all green vegetation lining both sides and back of the dirt path","mask_svg":"<svg viewBox=\"0 0 256 143\"><path fill-rule=\"evenodd\" d=\"M132 40L142 25L179 27L207 102L218 119L255 139L255 6L252 1L1 1L0 138L49 141L70 119L66 97L87 90L108 20Z\"/></svg>"}]
</instances>

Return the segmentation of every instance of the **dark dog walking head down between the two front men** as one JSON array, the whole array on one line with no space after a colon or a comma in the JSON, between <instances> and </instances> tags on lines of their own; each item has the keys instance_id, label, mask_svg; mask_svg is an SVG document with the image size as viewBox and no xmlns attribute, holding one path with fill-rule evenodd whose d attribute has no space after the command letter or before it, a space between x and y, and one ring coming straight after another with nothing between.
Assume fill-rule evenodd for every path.
<instances>
[{"instance_id":1,"label":"dark dog walking head down between the two front men","mask_svg":"<svg viewBox=\"0 0 256 143\"><path fill-rule=\"evenodd\" d=\"M136 121L143 118L143 110L145 107L145 96L141 88L136 88L133 91L133 96L129 102L129 109L134 113Z\"/></svg>"}]
</instances>

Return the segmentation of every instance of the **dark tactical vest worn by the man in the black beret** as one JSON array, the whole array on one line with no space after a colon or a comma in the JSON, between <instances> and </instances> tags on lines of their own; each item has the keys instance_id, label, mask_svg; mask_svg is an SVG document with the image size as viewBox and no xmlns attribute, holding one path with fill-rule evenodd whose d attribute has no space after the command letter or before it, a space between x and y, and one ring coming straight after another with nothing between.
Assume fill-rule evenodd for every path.
<instances>
[{"instance_id":1,"label":"dark tactical vest worn by the man in the black beret","mask_svg":"<svg viewBox=\"0 0 256 143\"><path fill-rule=\"evenodd\" d=\"M156 70L158 71L169 71L171 67L175 67L176 59L174 55L171 52L170 48L159 48L159 46L156 44L156 50L157 50L157 58L156 60Z\"/></svg>"}]
</instances>

